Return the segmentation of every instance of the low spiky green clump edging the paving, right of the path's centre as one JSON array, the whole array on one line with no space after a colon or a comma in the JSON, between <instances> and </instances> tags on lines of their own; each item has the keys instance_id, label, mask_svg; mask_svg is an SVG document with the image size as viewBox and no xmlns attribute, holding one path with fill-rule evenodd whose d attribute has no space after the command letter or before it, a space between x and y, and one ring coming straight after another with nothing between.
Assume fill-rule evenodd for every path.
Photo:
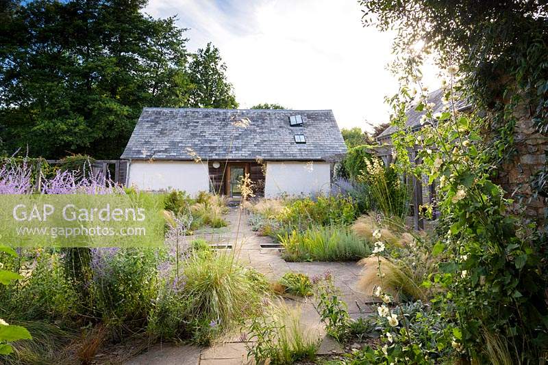
<instances>
[{"instance_id":1,"label":"low spiky green clump edging the paving, right of the path's centre","mask_svg":"<svg viewBox=\"0 0 548 365\"><path fill-rule=\"evenodd\" d=\"M280 234L284 259L289 261L351 261L371 254L369 243L347 227L313 226L304 232Z\"/></svg>"}]
</instances>

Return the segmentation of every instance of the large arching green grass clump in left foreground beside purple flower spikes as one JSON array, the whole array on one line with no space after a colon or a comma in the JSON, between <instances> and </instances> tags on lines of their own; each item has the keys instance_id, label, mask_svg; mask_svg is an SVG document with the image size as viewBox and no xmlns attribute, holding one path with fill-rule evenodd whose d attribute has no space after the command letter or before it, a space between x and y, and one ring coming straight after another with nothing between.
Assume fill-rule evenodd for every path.
<instances>
[{"instance_id":1,"label":"large arching green grass clump in left foreground beside purple flower spikes","mask_svg":"<svg viewBox=\"0 0 548 365\"><path fill-rule=\"evenodd\" d=\"M151 339L210 344L255 314L270 290L264 275L203 239L190 243L179 275L168 258L158 267L158 295L147 318Z\"/></svg>"}]
</instances>

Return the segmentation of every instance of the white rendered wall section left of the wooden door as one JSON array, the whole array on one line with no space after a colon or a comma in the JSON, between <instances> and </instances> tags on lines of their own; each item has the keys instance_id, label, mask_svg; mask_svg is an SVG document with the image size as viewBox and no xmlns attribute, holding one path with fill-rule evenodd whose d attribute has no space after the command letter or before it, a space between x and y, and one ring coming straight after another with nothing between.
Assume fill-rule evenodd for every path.
<instances>
[{"instance_id":1,"label":"white rendered wall section left of the wooden door","mask_svg":"<svg viewBox=\"0 0 548 365\"><path fill-rule=\"evenodd\" d=\"M142 190L184 190L191 196L209 191L208 166L194 161L132 161L127 186Z\"/></svg>"}]
</instances>

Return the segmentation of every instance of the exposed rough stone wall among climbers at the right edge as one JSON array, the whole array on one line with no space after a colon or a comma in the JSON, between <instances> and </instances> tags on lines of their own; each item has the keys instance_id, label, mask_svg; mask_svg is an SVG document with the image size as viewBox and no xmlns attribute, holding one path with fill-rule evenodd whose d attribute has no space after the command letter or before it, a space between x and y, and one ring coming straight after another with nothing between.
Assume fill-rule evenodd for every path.
<instances>
[{"instance_id":1,"label":"exposed rough stone wall among climbers at the right edge","mask_svg":"<svg viewBox=\"0 0 548 365\"><path fill-rule=\"evenodd\" d=\"M516 213L523 212L536 221L545 221L546 198L534 198L531 179L546 163L548 137L536 133L530 110L523 108L516 112L518 122L514 129L516 154L498 170L495 180L506 191L508 198L515 200Z\"/></svg>"}]
</instances>

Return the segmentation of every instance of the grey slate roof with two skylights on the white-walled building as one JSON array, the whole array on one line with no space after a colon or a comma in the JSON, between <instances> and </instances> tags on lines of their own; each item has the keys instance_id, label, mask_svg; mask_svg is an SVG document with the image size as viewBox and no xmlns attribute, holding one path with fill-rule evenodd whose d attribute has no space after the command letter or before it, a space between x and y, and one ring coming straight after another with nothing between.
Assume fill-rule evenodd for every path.
<instances>
[{"instance_id":1,"label":"grey slate roof with two skylights on the white-walled building","mask_svg":"<svg viewBox=\"0 0 548 365\"><path fill-rule=\"evenodd\" d=\"M302 126L290 126L296 115ZM234 125L245 118L247 127ZM192 160L188 148L202 160L338 161L347 152L331 110L145 108L121 158Z\"/></svg>"}]
</instances>

